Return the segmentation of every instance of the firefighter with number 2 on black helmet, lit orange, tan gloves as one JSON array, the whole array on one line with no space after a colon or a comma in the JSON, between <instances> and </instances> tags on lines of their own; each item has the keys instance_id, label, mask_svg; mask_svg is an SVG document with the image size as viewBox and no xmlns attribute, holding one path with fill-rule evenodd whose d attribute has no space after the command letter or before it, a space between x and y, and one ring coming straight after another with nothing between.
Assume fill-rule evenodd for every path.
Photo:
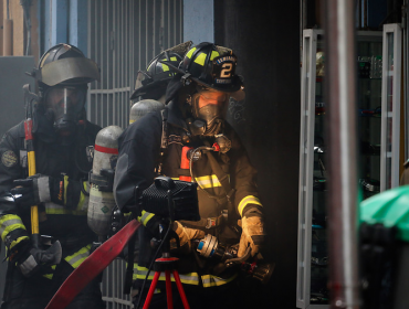
<instances>
[{"instance_id":1,"label":"firefighter with number 2 on black helmet, lit orange, tan gloves","mask_svg":"<svg viewBox=\"0 0 409 309\"><path fill-rule=\"evenodd\" d=\"M195 239L211 234L220 243L240 244L239 257L256 255L264 239L256 171L224 120L229 97L242 96L244 90L235 66L237 57L230 49L212 43L191 47L180 66L171 67L177 74L167 88L166 113L148 114L119 137L114 195L124 212L134 205L134 189L146 189L157 174L188 177L198 183L201 220L175 223L180 248L171 253L180 259L178 270L191 308L249 306L237 297L238 269L200 255L193 248ZM202 151L190 169L181 166L183 147L198 150L214 143L220 146L218 152ZM154 258L149 242L157 236L160 222L157 215L145 211L138 220L143 226L135 289L140 289ZM150 308L166 307L162 279L159 277L160 291L154 295ZM141 295L145 299L146 292L139 290L136 298ZM182 307L179 303L176 308Z\"/></svg>"}]
</instances>

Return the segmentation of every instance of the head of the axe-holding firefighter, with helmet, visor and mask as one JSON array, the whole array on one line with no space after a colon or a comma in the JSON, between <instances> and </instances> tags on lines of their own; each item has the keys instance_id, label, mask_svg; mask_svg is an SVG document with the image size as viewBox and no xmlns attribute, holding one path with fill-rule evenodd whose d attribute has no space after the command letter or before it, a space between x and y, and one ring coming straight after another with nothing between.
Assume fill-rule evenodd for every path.
<instances>
[{"instance_id":1,"label":"head of the axe-holding firefighter, with helmet, visor and mask","mask_svg":"<svg viewBox=\"0 0 409 309\"><path fill-rule=\"evenodd\" d=\"M78 121L85 120L87 84L99 81L97 64L74 45L56 44L27 74L35 78L41 99L33 115L33 132L45 142L70 145Z\"/></svg>"}]
</instances>

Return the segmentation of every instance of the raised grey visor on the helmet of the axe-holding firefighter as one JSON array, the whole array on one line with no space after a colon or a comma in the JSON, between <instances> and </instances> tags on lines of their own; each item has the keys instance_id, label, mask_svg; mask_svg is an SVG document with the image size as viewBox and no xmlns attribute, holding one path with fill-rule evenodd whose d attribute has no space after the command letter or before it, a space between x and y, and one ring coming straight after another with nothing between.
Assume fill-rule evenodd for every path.
<instances>
[{"instance_id":1,"label":"raised grey visor on the helmet of the axe-holding firefighter","mask_svg":"<svg viewBox=\"0 0 409 309\"><path fill-rule=\"evenodd\" d=\"M67 57L50 62L41 68L40 82L49 86L61 83L87 84L99 81L95 62L85 57Z\"/></svg>"}]
</instances>

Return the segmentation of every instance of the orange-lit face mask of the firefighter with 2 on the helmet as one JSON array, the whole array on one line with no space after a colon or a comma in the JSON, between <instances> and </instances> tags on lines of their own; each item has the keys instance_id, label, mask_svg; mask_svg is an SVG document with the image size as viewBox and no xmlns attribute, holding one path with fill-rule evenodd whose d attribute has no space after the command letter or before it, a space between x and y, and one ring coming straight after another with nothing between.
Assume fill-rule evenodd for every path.
<instances>
[{"instance_id":1,"label":"orange-lit face mask of the firefighter with 2 on the helmet","mask_svg":"<svg viewBox=\"0 0 409 309\"><path fill-rule=\"evenodd\" d=\"M196 87L196 93L188 96L193 119L187 119L193 136L216 136L222 131L229 97L228 93Z\"/></svg>"}]
</instances>

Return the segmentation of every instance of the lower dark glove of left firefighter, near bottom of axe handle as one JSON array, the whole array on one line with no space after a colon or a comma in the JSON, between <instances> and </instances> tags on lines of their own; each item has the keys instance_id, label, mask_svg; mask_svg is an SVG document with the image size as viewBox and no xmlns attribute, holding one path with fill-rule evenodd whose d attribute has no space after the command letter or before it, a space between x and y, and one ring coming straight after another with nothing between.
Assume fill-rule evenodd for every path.
<instances>
[{"instance_id":1,"label":"lower dark glove of left firefighter, near bottom of axe handle","mask_svg":"<svg viewBox=\"0 0 409 309\"><path fill-rule=\"evenodd\" d=\"M60 264L62 248L59 241L52 244L48 249L34 248L31 242L27 241L14 249L13 260L17 260L17 266L21 274L25 277L31 277L41 270L49 270L51 265Z\"/></svg>"}]
</instances>

